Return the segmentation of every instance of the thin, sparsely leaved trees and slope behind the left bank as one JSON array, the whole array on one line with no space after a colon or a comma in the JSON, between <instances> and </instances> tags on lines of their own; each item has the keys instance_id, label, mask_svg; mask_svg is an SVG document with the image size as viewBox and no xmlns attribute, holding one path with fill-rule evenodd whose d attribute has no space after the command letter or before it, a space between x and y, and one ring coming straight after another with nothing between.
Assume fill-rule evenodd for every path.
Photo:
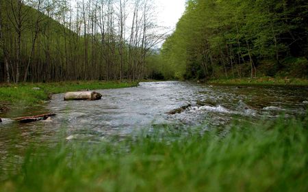
<instances>
[{"instance_id":1,"label":"thin, sparsely leaved trees and slope behind the left bank","mask_svg":"<svg viewBox=\"0 0 308 192\"><path fill-rule=\"evenodd\" d=\"M153 33L148 0L0 0L0 82L142 79Z\"/></svg>"}]
</instances>

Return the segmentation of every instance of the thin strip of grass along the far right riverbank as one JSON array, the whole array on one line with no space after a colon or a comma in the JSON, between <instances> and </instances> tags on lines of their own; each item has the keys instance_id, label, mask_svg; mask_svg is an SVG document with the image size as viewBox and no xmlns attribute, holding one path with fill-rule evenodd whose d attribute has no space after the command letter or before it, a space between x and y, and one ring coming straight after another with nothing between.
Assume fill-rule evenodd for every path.
<instances>
[{"instance_id":1,"label":"thin strip of grass along the far right riverbank","mask_svg":"<svg viewBox=\"0 0 308 192\"><path fill-rule=\"evenodd\" d=\"M242 78L242 79L214 79L207 81L209 84L218 85L308 85L308 79L298 78Z\"/></svg>"}]
</instances>

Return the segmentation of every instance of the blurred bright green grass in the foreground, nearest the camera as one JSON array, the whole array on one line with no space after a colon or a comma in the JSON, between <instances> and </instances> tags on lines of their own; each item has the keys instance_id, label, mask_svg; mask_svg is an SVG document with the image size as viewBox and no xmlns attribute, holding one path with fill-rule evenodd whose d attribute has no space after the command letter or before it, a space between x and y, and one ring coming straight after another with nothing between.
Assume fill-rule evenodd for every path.
<instances>
[{"instance_id":1,"label":"blurred bright green grass in the foreground, nearest the camera","mask_svg":"<svg viewBox=\"0 0 308 192\"><path fill-rule=\"evenodd\" d=\"M166 129L137 139L63 142L27 154L0 191L308 191L306 120ZM161 130L159 128L159 130Z\"/></svg>"}]
</instances>

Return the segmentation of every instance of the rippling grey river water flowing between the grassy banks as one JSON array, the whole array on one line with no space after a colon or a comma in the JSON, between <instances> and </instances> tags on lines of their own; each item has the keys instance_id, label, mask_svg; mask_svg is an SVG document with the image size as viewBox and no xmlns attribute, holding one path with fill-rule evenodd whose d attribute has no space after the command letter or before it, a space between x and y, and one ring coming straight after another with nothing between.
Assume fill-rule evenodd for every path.
<instances>
[{"instance_id":1,"label":"rippling grey river water flowing between the grassy banks","mask_svg":"<svg viewBox=\"0 0 308 192\"><path fill-rule=\"evenodd\" d=\"M157 125L161 124L223 128L234 119L306 115L308 103L308 87L211 86L166 81L97 92L103 94L101 100L64 101L64 94L56 94L49 104L23 111L23 115L57 113L51 121L19 124L8 119L16 114L6 114L0 124L0 163L12 151L15 160L22 159L30 143L57 143L60 135L66 140L100 141L125 137L142 128L159 128ZM177 110L179 113L169 113L180 107L183 108Z\"/></svg>"}]
</instances>

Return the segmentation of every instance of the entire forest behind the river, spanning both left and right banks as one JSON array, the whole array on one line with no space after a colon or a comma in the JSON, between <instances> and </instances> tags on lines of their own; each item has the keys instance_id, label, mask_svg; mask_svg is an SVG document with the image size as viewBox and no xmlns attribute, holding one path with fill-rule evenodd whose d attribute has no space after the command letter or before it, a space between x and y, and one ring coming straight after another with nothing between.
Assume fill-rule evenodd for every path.
<instances>
[{"instance_id":1,"label":"entire forest behind the river, spanning both left and right banks","mask_svg":"<svg viewBox=\"0 0 308 192\"><path fill-rule=\"evenodd\" d=\"M168 37L149 0L0 6L1 82L308 75L305 0L189 0Z\"/></svg>"}]
</instances>

